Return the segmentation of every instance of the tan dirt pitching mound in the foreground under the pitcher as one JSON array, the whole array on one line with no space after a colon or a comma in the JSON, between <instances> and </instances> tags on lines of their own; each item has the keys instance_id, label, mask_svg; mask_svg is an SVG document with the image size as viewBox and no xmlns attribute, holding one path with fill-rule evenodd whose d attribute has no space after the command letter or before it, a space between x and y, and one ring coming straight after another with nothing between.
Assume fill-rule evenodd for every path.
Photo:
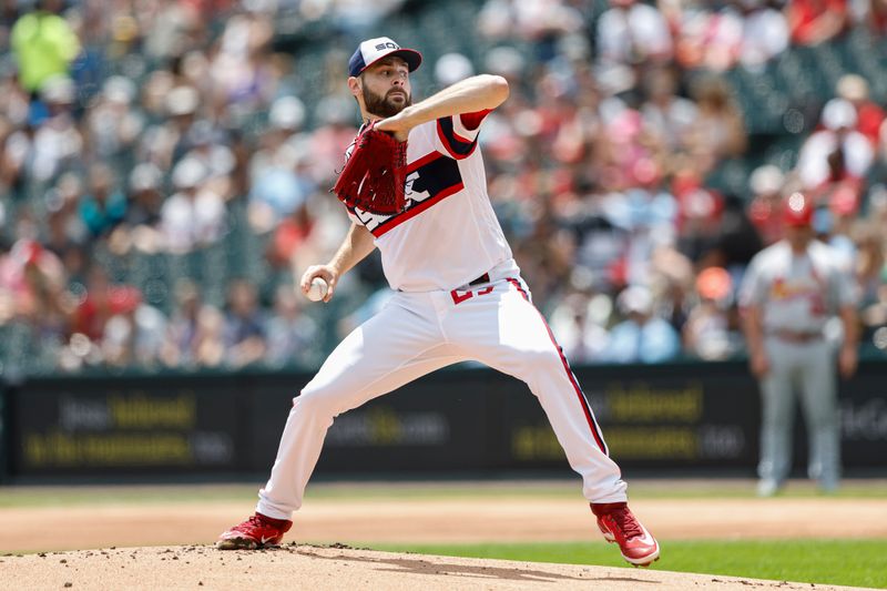
<instances>
[{"instance_id":1,"label":"tan dirt pitching mound in the foreground under the pitcher","mask_svg":"<svg viewBox=\"0 0 887 591\"><path fill-rule=\"evenodd\" d=\"M4 589L850 589L809 583L508 560L284 546L222 552L207 546L112 548L0 557Z\"/></svg>"}]
</instances>

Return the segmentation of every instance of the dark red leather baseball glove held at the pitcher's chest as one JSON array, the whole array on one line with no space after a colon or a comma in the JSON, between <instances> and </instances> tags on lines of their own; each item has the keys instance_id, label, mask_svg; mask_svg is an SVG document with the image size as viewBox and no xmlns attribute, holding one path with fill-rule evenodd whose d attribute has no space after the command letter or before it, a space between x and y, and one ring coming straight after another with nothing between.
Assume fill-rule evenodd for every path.
<instances>
[{"instance_id":1,"label":"dark red leather baseball glove held at the pitcher's chest","mask_svg":"<svg viewBox=\"0 0 887 591\"><path fill-rule=\"evenodd\" d=\"M404 211L407 142L375 129L374 121L355 140L333 192L350 208L391 215Z\"/></svg>"}]
</instances>

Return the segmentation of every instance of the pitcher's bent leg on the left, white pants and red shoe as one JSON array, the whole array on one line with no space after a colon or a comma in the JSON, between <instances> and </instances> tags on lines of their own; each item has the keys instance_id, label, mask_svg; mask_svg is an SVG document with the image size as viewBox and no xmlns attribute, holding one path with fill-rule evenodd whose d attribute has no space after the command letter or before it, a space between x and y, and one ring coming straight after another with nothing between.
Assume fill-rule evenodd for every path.
<instances>
[{"instance_id":1,"label":"pitcher's bent leg on the left, white pants and red shoe","mask_svg":"<svg viewBox=\"0 0 887 591\"><path fill-rule=\"evenodd\" d=\"M294 399L271 478L259 491L256 514L220 537L220 549L278 543L302 506L305 486L324 438L339 414L387 394L435 369L463 360L443 342L434 309L398 304L356 328L329 355Z\"/></svg>"}]
</instances>

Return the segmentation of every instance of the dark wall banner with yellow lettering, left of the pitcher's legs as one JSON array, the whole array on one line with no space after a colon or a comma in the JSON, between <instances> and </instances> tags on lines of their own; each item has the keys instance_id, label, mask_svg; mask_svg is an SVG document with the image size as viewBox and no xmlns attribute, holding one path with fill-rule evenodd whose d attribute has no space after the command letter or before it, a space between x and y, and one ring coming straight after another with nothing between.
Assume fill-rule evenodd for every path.
<instances>
[{"instance_id":1,"label":"dark wall banner with yellow lettering, left of the pitcher's legs","mask_svg":"<svg viewBox=\"0 0 887 591\"><path fill-rule=\"evenodd\" d=\"M13 405L12 470L28 476L232 471L242 400L227 380L33 381Z\"/></svg>"}]
</instances>

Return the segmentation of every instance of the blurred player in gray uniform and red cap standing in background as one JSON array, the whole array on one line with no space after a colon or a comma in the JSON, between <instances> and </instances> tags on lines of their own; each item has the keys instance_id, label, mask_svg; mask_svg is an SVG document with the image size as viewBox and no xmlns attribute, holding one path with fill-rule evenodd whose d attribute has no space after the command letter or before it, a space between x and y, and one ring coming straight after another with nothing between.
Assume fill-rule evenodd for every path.
<instances>
[{"instance_id":1,"label":"blurred player in gray uniform and red cap standing in background","mask_svg":"<svg viewBox=\"0 0 887 591\"><path fill-rule=\"evenodd\" d=\"M824 330L837 314L844 325L837 368L843 377L852 376L857 361L855 288L832 248L814 240L812 218L809 201L792 194L783 210L785 238L752 259L740 289L751 369L763 403L762 497L775 495L792 467L795 391L809 432L809 477L826 492L840 479L836 357Z\"/></svg>"}]
</instances>

